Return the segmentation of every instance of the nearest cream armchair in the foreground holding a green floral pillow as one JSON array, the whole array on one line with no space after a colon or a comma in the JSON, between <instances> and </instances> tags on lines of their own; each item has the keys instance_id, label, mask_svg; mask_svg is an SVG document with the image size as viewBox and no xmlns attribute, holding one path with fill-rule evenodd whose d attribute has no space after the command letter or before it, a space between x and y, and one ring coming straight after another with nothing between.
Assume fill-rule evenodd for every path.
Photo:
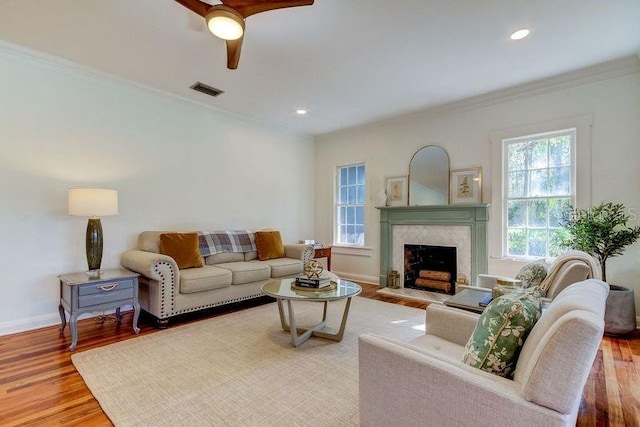
<instances>
[{"instance_id":1,"label":"nearest cream armchair in the foreground holding a green floral pillow","mask_svg":"<svg viewBox=\"0 0 640 427\"><path fill-rule=\"evenodd\" d=\"M514 379L462 363L478 316L427 307L426 334L409 343L359 337L363 426L573 426L604 328L609 286L573 284L526 339Z\"/></svg>"}]
</instances>

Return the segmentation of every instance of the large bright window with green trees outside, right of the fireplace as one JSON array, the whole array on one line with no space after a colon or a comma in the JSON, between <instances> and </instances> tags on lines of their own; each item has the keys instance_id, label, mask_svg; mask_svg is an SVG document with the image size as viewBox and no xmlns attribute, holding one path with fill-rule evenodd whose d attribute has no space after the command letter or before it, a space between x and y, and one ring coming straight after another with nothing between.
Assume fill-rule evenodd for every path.
<instances>
[{"instance_id":1,"label":"large bright window with green trees outside, right of the fireplace","mask_svg":"<svg viewBox=\"0 0 640 427\"><path fill-rule=\"evenodd\" d=\"M556 257L561 220L575 205L575 129L505 139L504 253Z\"/></svg>"}]
</instances>

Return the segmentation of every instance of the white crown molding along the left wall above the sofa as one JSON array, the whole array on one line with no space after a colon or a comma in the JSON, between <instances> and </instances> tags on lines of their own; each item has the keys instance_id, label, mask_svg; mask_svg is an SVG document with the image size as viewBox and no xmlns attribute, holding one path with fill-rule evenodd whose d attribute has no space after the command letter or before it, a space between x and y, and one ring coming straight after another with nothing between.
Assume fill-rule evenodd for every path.
<instances>
[{"instance_id":1,"label":"white crown molding along the left wall above the sofa","mask_svg":"<svg viewBox=\"0 0 640 427\"><path fill-rule=\"evenodd\" d=\"M307 139L312 138L311 135L292 130L286 127L278 127L269 123L262 122L260 120L251 119L232 111L225 110L220 107L216 107L204 102L197 101L195 99L187 98L186 96L178 95L173 92L158 89L153 86L139 83L133 80L129 80L115 74L110 74L104 71L97 70L85 65L81 65L77 62L70 61L55 55L43 53L25 46L17 45L14 43L0 40L0 56L8 58L10 60L19 61L23 64L37 66L42 69L46 69L51 72L68 75L73 78L90 81L96 84L104 85L117 85L120 87L128 87L134 90L141 90L147 93L153 93L165 98L172 98L176 101L180 101L186 104L195 105L198 107L206 108L210 111L214 111L218 114L231 117L235 120L244 122L248 126L258 127L261 129L269 129L274 132L293 135L297 137L304 137Z\"/></svg>"}]
</instances>

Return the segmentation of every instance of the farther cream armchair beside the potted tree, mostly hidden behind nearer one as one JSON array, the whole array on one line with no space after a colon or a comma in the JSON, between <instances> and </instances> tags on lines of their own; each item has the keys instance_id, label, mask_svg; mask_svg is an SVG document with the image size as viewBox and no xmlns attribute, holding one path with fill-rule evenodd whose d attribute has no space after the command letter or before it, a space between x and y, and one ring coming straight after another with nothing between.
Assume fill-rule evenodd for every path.
<instances>
[{"instance_id":1,"label":"farther cream armchair beside the potted tree, mostly hidden behind nearer one","mask_svg":"<svg viewBox=\"0 0 640 427\"><path fill-rule=\"evenodd\" d=\"M545 297L553 299L567 286L586 279L601 279L600 264L588 253L572 250L560 255L549 266L547 277L541 287L545 291ZM491 289L499 279L512 279L510 277L494 276L491 274L478 274L474 286Z\"/></svg>"}]
</instances>

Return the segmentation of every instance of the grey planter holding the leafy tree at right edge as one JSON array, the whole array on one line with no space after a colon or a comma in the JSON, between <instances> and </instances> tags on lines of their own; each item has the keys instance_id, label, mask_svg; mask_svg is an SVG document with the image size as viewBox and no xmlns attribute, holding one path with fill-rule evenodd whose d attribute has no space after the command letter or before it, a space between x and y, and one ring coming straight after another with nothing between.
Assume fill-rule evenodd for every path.
<instances>
[{"instance_id":1,"label":"grey planter holding the leafy tree at right edge","mask_svg":"<svg viewBox=\"0 0 640 427\"><path fill-rule=\"evenodd\" d=\"M604 332L621 335L636 329L636 304L633 290L609 285L607 308L604 313Z\"/></svg>"}]
</instances>

